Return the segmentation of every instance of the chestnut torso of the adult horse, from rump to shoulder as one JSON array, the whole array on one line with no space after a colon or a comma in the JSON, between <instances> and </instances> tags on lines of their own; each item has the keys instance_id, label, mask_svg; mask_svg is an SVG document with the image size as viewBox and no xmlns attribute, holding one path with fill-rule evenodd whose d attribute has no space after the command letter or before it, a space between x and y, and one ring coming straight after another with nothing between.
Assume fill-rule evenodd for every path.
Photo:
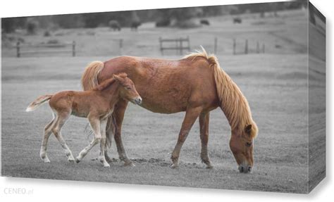
<instances>
[{"instance_id":1,"label":"chestnut torso of the adult horse, from rump to shoulder","mask_svg":"<svg viewBox=\"0 0 334 202\"><path fill-rule=\"evenodd\" d=\"M205 58L164 60L120 56L105 62L99 82L125 72L142 96L142 106L158 113L185 111L188 106L216 102L216 87Z\"/></svg>"}]
</instances>

